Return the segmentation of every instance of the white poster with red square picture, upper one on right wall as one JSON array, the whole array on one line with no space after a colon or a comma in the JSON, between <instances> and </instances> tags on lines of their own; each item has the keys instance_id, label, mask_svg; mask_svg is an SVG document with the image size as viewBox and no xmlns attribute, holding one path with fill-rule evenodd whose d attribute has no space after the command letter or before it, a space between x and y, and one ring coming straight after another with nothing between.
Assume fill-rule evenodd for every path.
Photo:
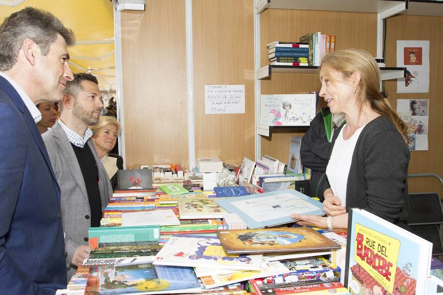
<instances>
[{"instance_id":1,"label":"white poster with red square picture, upper one on right wall","mask_svg":"<svg viewBox=\"0 0 443 295\"><path fill-rule=\"evenodd\" d=\"M406 77L397 79L397 93L429 92L429 40L397 40L397 66Z\"/></svg>"}]
</instances>

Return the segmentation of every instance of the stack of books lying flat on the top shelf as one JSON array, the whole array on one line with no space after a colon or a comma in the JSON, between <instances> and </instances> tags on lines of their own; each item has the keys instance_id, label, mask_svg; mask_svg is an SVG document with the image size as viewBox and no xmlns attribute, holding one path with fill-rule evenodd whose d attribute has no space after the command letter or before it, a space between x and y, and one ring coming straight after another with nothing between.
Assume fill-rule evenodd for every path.
<instances>
[{"instance_id":1,"label":"stack of books lying flat on the top shelf","mask_svg":"<svg viewBox=\"0 0 443 295\"><path fill-rule=\"evenodd\" d=\"M272 65L309 64L309 44L299 42L274 41L267 44L268 58Z\"/></svg>"}]
</instances>

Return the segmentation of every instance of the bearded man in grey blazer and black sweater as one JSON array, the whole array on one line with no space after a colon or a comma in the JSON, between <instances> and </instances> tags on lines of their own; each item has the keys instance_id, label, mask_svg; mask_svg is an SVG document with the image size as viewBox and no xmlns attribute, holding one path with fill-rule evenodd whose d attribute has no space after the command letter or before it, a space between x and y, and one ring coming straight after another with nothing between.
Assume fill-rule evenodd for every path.
<instances>
[{"instance_id":1,"label":"bearded man in grey blazer and black sweater","mask_svg":"<svg viewBox=\"0 0 443 295\"><path fill-rule=\"evenodd\" d=\"M106 170L90 141L90 125L98 123L103 102L97 79L74 75L63 92L60 119L42 135L62 190L67 279L88 257L88 229L99 227L112 195Z\"/></svg>"}]
</instances>

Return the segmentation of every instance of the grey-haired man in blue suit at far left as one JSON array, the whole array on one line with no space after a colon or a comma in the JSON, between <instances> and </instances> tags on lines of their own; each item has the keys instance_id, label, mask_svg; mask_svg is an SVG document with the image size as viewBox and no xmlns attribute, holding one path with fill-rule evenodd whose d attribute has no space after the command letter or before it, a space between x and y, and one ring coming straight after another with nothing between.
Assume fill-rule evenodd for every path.
<instances>
[{"instance_id":1,"label":"grey-haired man in blue suit at far left","mask_svg":"<svg viewBox=\"0 0 443 295\"><path fill-rule=\"evenodd\" d=\"M73 79L70 29L27 7L0 26L0 293L47 295L66 286L60 188L35 104Z\"/></svg>"}]
</instances>

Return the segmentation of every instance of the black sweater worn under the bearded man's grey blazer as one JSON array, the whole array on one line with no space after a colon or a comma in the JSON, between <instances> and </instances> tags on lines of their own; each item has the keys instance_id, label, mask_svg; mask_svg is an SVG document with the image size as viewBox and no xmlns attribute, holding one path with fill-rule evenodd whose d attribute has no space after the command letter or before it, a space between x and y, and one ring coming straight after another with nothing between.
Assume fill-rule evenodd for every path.
<instances>
[{"instance_id":1,"label":"black sweater worn under the bearded man's grey blazer","mask_svg":"<svg viewBox=\"0 0 443 295\"><path fill-rule=\"evenodd\" d=\"M88 144L85 144L83 148L76 147L72 143L71 146L74 149L83 179L85 180L89 207L91 209L91 227L99 227L102 211L100 190L98 189L98 168L94 155Z\"/></svg>"}]
</instances>

